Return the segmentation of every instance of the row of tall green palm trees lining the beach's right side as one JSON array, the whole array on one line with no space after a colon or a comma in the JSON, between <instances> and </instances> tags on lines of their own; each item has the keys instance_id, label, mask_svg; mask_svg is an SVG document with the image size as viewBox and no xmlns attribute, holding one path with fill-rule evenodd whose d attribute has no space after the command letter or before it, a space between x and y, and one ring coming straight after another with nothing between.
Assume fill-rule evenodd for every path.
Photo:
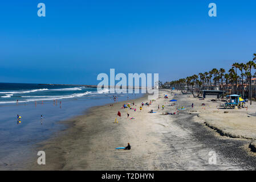
<instances>
[{"instance_id":1,"label":"row of tall green palm trees lining the beach's right side","mask_svg":"<svg viewBox=\"0 0 256 182\"><path fill-rule=\"evenodd\" d=\"M248 61L247 63L234 63L228 72L226 72L224 68L213 68L209 72L198 73L198 75L188 76L186 78L181 78L180 80L171 81L169 82L169 85L176 88L184 88L185 86L189 87L192 89L192 93L194 87L198 88L199 90L217 90L217 85L219 85L219 88L221 85L220 90L226 91L227 93L231 92L231 94L239 94L238 80L241 78L242 97L245 98L246 94L246 96L250 99L251 104L251 78L256 77L256 72L254 75L252 75L253 69L256 69L255 60L256 53L253 54L253 60ZM245 78L245 83L243 78ZM225 89L224 81L226 85ZM229 84L231 85L231 89L229 89ZM249 89L246 89L246 92L245 84L249 85Z\"/></svg>"}]
</instances>

